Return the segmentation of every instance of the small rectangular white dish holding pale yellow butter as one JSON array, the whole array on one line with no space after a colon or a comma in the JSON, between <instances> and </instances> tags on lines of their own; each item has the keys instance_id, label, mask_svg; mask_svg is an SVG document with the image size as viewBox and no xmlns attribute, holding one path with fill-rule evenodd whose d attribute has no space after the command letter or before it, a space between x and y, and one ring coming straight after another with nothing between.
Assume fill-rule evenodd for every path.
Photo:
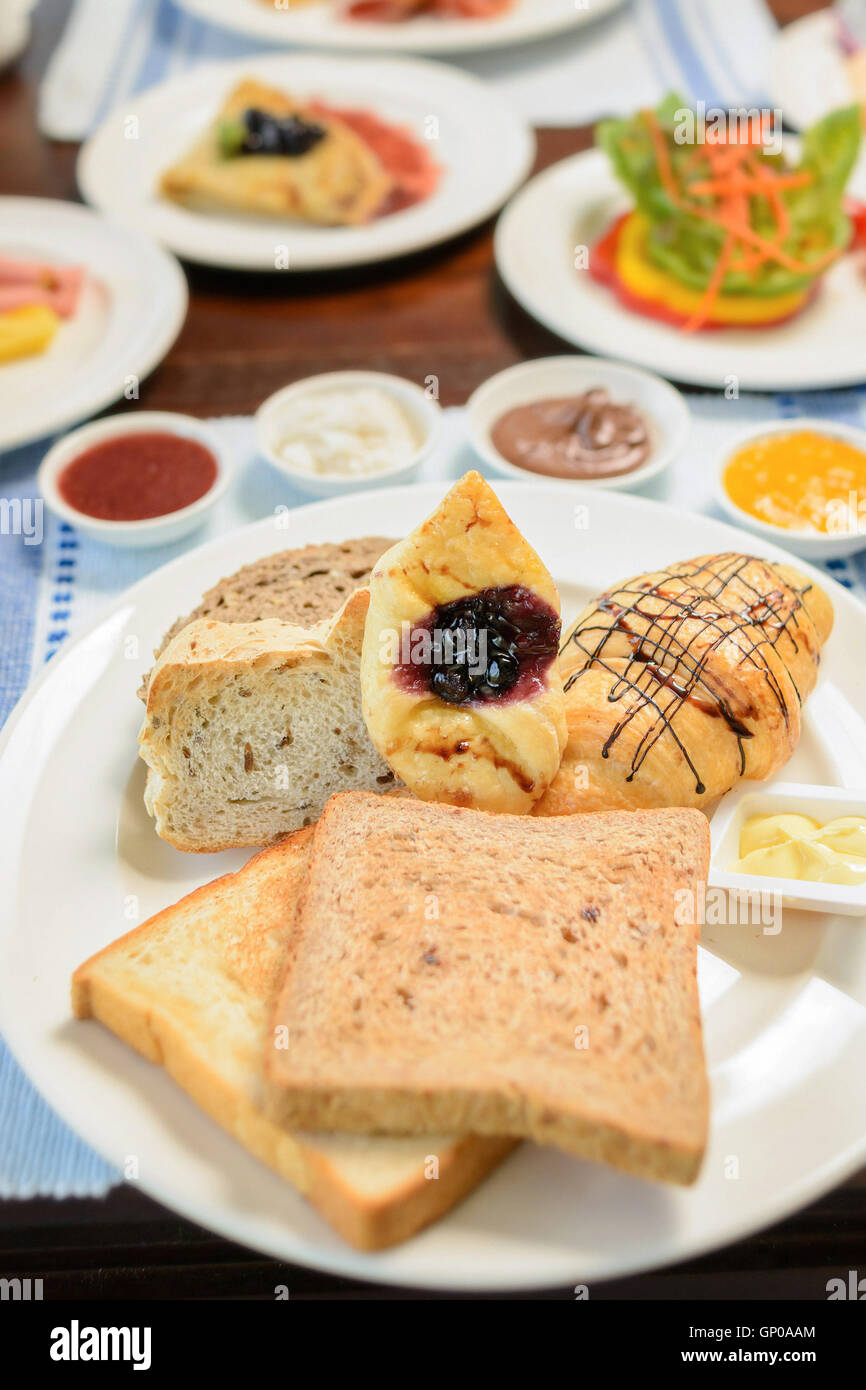
<instances>
[{"instance_id":1,"label":"small rectangular white dish holding pale yellow butter","mask_svg":"<svg viewBox=\"0 0 866 1390\"><path fill-rule=\"evenodd\" d=\"M808 912L841 912L866 916L866 884L806 883L802 878L776 878L770 874L737 873L731 865L740 859L740 833L751 816L780 813L812 816L823 826L837 816L860 816L866 812L866 787L812 787L806 783L744 781L716 809L710 824L710 884L735 892L773 892L783 908Z\"/></svg>"}]
</instances>

